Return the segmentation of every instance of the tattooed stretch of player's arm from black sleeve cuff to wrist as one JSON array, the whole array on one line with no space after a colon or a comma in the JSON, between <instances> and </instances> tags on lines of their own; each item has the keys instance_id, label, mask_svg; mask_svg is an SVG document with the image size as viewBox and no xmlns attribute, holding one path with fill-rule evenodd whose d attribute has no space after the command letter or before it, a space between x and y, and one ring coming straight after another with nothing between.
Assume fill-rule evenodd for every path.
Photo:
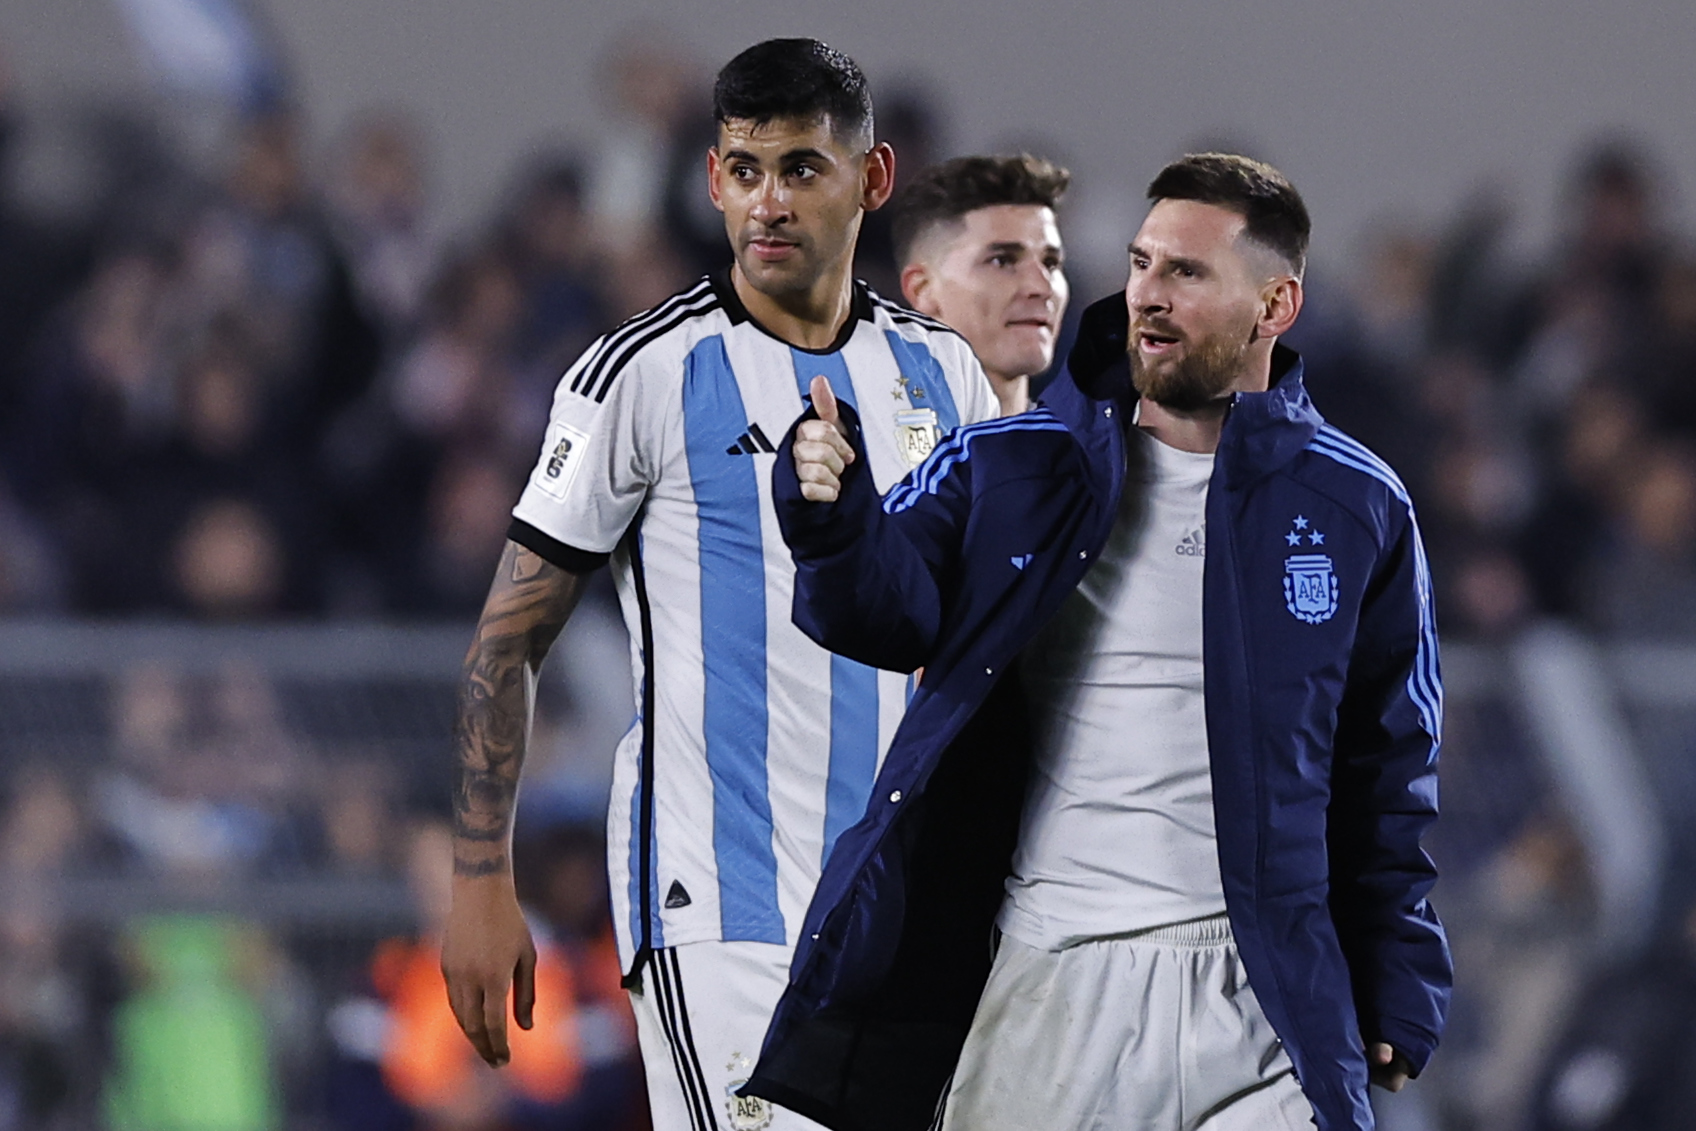
<instances>
[{"instance_id":1,"label":"tattooed stretch of player's arm from black sleeve cuff to wrist","mask_svg":"<svg viewBox=\"0 0 1696 1131\"><path fill-rule=\"evenodd\" d=\"M572 616L578 588L577 575L507 543L460 680L455 875L507 868L536 673Z\"/></svg>"}]
</instances>

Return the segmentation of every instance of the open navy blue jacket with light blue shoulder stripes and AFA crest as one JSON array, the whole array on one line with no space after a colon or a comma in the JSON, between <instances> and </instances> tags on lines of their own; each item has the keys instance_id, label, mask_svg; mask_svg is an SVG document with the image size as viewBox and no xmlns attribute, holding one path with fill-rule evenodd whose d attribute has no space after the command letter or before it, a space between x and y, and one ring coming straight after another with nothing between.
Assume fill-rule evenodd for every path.
<instances>
[{"instance_id":1,"label":"open navy blue jacket with light blue shoulder stripes and AFA crest","mask_svg":"<svg viewBox=\"0 0 1696 1131\"><path fill-rule=\"evenodd\" d=\"M1124 320L1119 297L1091 307L1038 409L958 429L884 499L846 407L862 458L834 504L801 497L794 429L780 448L795 624L924 677L824 868L748 1094L838 1131L929 1124L989 975L1018 836L1019 651L1106 544L1138 451ZM1448 1006L1420 848L1437 816L1437 632L1401 482L1321 421L1282 346L1274 380L1235 398L1208 490L1219 873L1318 1126L1367 1129L1362 1043L1389 1041L1420 1072Z\"/></svg>"}]
</instances>

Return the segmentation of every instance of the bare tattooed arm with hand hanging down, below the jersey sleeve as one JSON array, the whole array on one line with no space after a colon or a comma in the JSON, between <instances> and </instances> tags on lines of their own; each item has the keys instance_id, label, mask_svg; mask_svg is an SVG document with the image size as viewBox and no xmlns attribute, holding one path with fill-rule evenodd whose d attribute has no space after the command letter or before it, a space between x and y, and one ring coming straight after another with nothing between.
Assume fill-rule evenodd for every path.
<instances>
[{"instance_id":1,"label":"bare tattooed arm with hand hanging down, below the jersey sleeve","mask_svg":"<svg viewBox=\"0 0 1696 1131\"><path fill-rule=\"evenodd\" d=\"M441 968L460 1028L492 1065L510 1058L509 987L521 1028L531 1028L536 1002L536 946L512 883L512 809L536 677L580 593L578 575L507 543L460 682L453 911Z\"/></svg>"}]
</instances>

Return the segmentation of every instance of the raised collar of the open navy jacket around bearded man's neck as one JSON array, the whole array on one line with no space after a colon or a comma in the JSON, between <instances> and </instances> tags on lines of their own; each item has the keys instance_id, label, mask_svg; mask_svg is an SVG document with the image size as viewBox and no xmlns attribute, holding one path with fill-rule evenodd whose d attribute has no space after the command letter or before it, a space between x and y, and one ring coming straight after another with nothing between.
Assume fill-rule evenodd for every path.
<instances>
[{"instance_id":1,"label":"raised collar of the open navy jacket around bearded man's neck","mask_svg":"<svg viewBox=\"0 0 1696 1131\"><path fill-rule=\"evenodd\" d=\"M1043 390L1041 404L1074 434L1097 437L1104 429L1130 427L1136 388L1126 361L1130 314L1124 295L1109 295L1084 310L1077 343L1060 376ZM1116 405L1113 421L1104 409ZM1219 437L1218 465L1230 488L1240 488L1296 458L1325 419L1303 387L1301 354L1272 348L1272 388L1236 393Z\"/></svg>"}]
</instances>

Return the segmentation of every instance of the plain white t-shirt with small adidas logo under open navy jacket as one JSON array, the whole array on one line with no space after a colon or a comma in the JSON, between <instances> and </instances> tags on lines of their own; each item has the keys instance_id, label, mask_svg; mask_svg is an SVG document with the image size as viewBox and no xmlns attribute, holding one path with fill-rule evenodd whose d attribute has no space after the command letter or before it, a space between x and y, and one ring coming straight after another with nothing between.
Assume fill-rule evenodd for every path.
<instances>
[{"instance_id":1,"label":"plain white t-shirt with small adidas logo under open navy jacket","mask_svg":"<svg viewBox=\"0 0 1696 1131\"><path fill-rule=\"evenodd\" d=\"M1131 434L1146 482L1021 658L1036 758L999 926L1045 950L1225 911L1201 668L1213 456Z\"/></svg>"}]
</instances>

